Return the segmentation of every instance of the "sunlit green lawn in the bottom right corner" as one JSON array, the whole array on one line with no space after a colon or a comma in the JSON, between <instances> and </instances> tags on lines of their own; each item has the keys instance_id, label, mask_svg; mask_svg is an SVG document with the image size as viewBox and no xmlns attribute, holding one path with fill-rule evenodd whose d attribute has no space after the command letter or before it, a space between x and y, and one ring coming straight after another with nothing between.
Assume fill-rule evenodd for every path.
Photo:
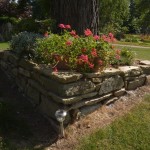
<instances>
[{"instance_id":1,"label":"sunlit green lawn in the bottom right corner","mask_svg":"<svg viewBox=\"0 0 150 150\"><path fill-rule=\"evenodd\" d=\"M78 150L149 150L150 95L109 126L82 139Z\"/></svg>"}]
</instances>

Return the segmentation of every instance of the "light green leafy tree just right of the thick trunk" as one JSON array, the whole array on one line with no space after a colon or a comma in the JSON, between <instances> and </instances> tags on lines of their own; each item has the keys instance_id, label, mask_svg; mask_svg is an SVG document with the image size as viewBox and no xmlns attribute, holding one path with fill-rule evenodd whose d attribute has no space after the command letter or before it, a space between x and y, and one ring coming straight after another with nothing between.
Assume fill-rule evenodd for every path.
<instances>
[{"instance_id":1,"label":"light green leafy tree just right of the thick trunk","mask_svg":"<svg viewBox=\"0 0 150 150\"><path fill-rule=\"evenodd\" d=\"M100 32L120 32L129 16L129 0L99 0Z\"/></svg>"}]
</instances>

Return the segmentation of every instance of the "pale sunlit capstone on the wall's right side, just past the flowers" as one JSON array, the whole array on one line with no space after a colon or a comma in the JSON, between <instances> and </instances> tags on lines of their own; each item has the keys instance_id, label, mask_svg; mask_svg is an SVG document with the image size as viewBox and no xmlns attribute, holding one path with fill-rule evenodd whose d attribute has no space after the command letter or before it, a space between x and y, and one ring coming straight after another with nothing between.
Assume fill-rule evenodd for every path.
<instances>
[{"instance_id":1,"label":"pale sunlit capstone on the wall's right side, just past the flowers","mask_svg":"<svg viewBox=\"0 0 150 150\"><path fill-rule=\"evenodd\" d=\"M124 72L125 77L139 76L142 74L142 69L137 66L122 66L119 67L119 70Z\"/></svg>"}]
</instances>

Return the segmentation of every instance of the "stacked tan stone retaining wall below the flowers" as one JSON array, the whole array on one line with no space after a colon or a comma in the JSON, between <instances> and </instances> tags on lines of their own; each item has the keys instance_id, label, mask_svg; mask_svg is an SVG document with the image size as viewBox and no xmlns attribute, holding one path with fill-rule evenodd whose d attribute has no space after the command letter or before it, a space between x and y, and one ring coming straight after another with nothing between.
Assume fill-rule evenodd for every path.
<instances>
[{"instance_id":1,"label":"stacked tan stone retaining wall below the flowers","mask_svg":"<svg viewBox=\"0 0 150 150\"><path fill-rule=\"evenodd\" d=\"M68 111L66 124L110 104L150 80L150 62L138 66L107 68L103 73L53 72L46 65L0 52L0 67L28 99L47 117L58 109Z\"/></svg>"}]
</instances>

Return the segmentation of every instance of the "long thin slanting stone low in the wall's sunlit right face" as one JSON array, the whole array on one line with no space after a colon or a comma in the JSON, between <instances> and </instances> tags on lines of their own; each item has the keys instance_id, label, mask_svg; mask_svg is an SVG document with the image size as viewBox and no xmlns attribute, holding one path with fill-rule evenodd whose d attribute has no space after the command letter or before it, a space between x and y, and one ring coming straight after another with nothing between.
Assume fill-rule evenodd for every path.
<instances>
[{"instance_id":1,"label":"long thin slanting stone low in the wall's sunlit right face","mask_svg":"<svg viewBox=\"0 0 150 150\"><path fill-rule=\"evenodd\" d=\"M83 107L83 106L87 106L87 105L94 105L96 103L99 103L105 99L108 99L112 96L112 94L107 94L105 96L102 96L102 97L98 97L98 98L94 98L94 99L86 99L86 100L82 100L82 101L79 101L78 103L72 105L69 110L71 109L77 109L77 108L80 108L80 107Z\"/></svg>"}]
</instances>

